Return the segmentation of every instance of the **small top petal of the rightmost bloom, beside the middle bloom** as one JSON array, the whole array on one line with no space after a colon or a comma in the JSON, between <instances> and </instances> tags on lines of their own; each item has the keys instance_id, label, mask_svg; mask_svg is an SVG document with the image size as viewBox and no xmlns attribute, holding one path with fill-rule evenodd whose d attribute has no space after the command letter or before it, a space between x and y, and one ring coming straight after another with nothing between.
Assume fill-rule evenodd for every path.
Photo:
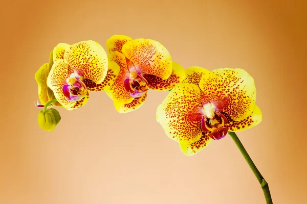
<instances>
[{"instance_id":1,"label":"small top petal of the rightmost bloom, beside the middle bloom","mask_svg":"<svg viewBox=\"0 0 307 204\"><path fill-rule=\"evenodd\" d=\"M203 67L193 66L187 68L185 72L186 72L186 78L183 80L183 82L199 86L202 77L208 74L210 71Z\"/></svg>"}]
</instances>

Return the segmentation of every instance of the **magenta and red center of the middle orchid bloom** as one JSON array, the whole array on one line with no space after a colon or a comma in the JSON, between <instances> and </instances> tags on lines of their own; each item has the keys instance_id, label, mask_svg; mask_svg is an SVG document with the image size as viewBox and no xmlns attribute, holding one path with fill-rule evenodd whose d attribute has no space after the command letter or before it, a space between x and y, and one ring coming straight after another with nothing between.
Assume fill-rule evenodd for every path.
<instances>
[{"instance_id":1,"label":"magenta and red center of the middle orchid bloom","mask_svg":"<svg viewBox=\"0 0 307 204\"><path fill-rule=\"evenodd\" d=\"M129 78L124 80L124 86L126 91L134 98L142 96L148 88L148 82L143 77L141 72L131 71Z\"/></svg>"}]
</instances>

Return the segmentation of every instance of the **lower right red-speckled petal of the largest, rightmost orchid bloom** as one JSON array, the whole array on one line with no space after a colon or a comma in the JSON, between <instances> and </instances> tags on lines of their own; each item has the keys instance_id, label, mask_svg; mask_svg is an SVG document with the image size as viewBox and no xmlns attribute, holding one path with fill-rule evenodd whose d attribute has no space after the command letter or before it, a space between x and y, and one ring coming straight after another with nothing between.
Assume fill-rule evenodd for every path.
<instances>
[{"instance_id":1,"label":"lower right red-speckled petal of the largest, rightmost orchid bloom","mask_svg":"<svg viewBox=\"0 0 307 204\"><path fill-rule=\"evenodd\" d=\"M234 121L229 116L226 115L228 124L226 125L231 132L239 132L250 129L253 126L256 126L262 121L262 113L260 109L255 106L252 114L245 118L244 120Z\"/></svg>"}]
</instances>

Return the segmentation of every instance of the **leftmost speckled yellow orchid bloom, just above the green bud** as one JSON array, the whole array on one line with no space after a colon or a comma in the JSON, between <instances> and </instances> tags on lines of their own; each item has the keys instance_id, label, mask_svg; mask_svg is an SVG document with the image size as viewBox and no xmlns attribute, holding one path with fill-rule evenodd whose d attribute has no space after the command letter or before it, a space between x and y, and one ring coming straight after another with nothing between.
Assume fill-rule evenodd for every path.
<instances>
[{"instance_id":1,"label":"leftmost speckled yellow orchid bloom, just above the green bud","mask_svg":"<svg viewBox=\"0 0 307 204\"><path fill-rule=\"evenodd\" d=\"M51 52L49 63L35 74L42 104L37 106L43 107L56 99L54 106L67 110L80 108L89 99L89 91L102 91L113 84L119 70L95 41L59 43Z\"/></svg>"}]
</instances>

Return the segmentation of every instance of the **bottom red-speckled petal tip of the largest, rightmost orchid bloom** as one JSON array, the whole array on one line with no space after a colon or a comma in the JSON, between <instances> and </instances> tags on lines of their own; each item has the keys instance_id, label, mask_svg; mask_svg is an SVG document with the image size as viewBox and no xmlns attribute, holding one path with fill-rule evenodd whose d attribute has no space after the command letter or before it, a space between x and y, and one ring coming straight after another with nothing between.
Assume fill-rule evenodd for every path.
<instances>
[{"instance_id":1,"label":"bottom red-speckled petal tip of the largest, rightmost orchid bloom","mask_svg":"<svg viewBox=\"0 0 307 204\"><path fill-rule=\"evenodd\" d=\"M191 144L180 143L180 148L186 156L193 156L203 150L211 141L212 139L209 137L208 133L203 133L203 136L196 142Z\"/></svg>"}]
</instances>

